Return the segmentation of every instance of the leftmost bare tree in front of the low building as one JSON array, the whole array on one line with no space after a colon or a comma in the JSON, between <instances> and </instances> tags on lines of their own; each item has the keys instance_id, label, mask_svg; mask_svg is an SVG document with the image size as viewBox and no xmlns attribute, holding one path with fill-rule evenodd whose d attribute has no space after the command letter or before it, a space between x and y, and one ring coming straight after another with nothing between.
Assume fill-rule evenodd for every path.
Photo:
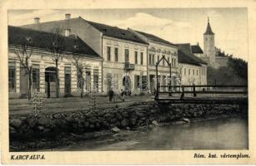
<instances>
[{"instance_id":1,"label":"leftmost bare tree in front of the low building","mask_svg":"<svg viewBox=\"0 0 256 166\"><path fill-rule=\"evenodd\" d=\"M33 65L30 63L30 58L33 55L33 39L31 37L24 37L21 46L16 46L14 49L18 60L25 70L25 75L28 78L28 100L31 99L32 88L32 72Z\"/></svg>"}]
</instances>

